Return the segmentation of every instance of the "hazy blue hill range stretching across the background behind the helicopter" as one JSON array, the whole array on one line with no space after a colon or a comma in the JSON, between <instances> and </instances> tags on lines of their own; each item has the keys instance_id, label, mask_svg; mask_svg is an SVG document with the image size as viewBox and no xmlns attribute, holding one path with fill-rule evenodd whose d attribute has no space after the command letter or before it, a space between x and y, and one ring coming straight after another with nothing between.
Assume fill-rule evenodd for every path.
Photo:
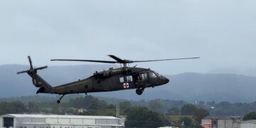
<instances>
[{"instance_id":1,"label":"hazy blue hill range stretching across the background behind the helicopter","mask_svg":"<svg viewBox=\"0 0 256 128\"><path fill-rule=\"evenodd\" d=\"M51 85L87 78L95 71L107 70L113 65L75 65L50 66L38 74ZM28 65L0 65L0 97L19 97L35 95L36 87L26 75L16 75L17 71L26 70ZM91 93L100 97L116 97L127 100L185 100L192 101L229 101L253 102L256 97L256 78L232 74L182 73L166 75L167 85L146 88L144 94L136 95L135 90ZM42 94L41 94L42 95ZM82 94L80 94L82 95ZM49 95L43 95L49 96ZM53 95L54 97L56 95Z\"/></svg>"}]
</instances>

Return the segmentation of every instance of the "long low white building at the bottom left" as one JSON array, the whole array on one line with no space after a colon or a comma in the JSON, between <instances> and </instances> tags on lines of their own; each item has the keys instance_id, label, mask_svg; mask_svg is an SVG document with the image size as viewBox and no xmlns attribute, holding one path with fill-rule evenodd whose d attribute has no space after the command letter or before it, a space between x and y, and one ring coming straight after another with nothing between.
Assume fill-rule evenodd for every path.
<instances>
[{"instance_id":1,"label":"long low white building at the bottom left","mask_svg":"<svg viewBox=\"0 0 256 128\"><path fill-rule=\"evenodd\" d=\"M108 116L5 114L0 127L15 128L116 128L124 127L124 119Z\"/></svg>"}]
</instances>

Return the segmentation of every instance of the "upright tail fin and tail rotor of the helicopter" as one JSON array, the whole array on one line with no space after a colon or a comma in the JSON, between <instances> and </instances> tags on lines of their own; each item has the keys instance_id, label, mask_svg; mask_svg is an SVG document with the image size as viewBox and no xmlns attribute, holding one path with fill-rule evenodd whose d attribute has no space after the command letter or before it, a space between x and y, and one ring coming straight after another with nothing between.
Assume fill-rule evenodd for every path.
<instances>
[{"instance_id":1,"label":"upright tail fin and tail rotor of the helicopter","mask_svg":"<svg viewBox=\"0 0 256 128\"><path fill-rule=\"evenodd\" d=\"M29 64L30 64L30 69L29 70L23 70L21 72L18 72L17 74L28 73L28 75L30 75L31 78L32 78L33 85L35 85L36 87L40 87L36 93L51 93L51 90L52 90L53 87L50 86L50 84L48 84L48 82L46 82L46 80L43 80L43 78L41 78L37 74L37 70L42 70L44 68L47 68L47 65L43 66L43 67L40 67L40 68L33 68L30 56L28 56L28 61L29 61Z\"/></svg>"}]
</instances>

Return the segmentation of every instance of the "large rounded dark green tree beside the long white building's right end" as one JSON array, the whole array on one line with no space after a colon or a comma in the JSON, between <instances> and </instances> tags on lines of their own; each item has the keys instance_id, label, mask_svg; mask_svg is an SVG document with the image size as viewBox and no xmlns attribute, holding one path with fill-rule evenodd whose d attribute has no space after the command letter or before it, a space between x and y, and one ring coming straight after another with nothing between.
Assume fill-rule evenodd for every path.
<instances>
[{"instance_id":1,"label":"large rounded dark green tree beside the long white building's right end","mask_svg":"<svg viewBox=\"0 0 256 128\"><path fill-rule=\"evenodd\" d=\"M130 108L125 121L126 127L162 127L164 124L164 116L146 107Z\"/></svg>"}]
</instances>

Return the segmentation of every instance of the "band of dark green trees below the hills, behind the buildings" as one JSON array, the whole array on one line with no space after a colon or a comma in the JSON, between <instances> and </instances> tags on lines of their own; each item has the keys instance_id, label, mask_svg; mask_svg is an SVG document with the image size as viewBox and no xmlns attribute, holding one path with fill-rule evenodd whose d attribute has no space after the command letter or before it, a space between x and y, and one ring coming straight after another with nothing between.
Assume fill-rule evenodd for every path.
<instances>
[{"instance_id":1,"label":"band of dark green trees below the hills, behind the buildings","mask_svg":"<svg viewBox=\"0 0 256 128\"><path fill-rule=\"evenodd\" d=\"M199 102L191 104L183 101L150 100L118 102L119 114L126 116L126 127L201 127L201 119L214 115L220 110L248 109L244 119L256 119L253 109L256 103ZM169 105L169 107L167 106ZM227 110L228 109L228 110ZM249 112L249 110L252 110ZM227 114L228 112L224 112ZM231 112L231 110L230 110ZM50 102L0 102L0 114L78 114L116 116L116 104L108 103L90 95L76 97L61 104ZM213 113L213 114L212 114ZM231 112L231 114L234 114ZM241 114L244 115L244 114ZM228 115L225 115L228 116Z\"/></svg>"}]
</instances>

